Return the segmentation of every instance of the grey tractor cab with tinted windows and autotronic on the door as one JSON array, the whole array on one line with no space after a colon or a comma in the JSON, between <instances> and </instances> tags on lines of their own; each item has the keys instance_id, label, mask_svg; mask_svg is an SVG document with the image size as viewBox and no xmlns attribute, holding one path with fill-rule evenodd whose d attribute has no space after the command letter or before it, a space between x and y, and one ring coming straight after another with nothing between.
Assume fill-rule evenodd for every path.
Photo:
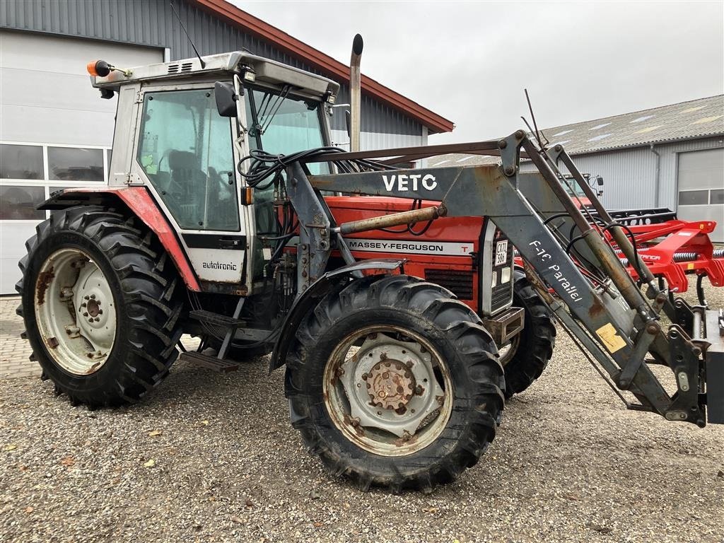
<instances>
[{"instance_id":1,"label":"grey tractor cab with tinted windows and autotronic on the door","mask_svg":"<svg viewBox=\"0 0 724 543\"><path fill-rule=\"evenodd\" d=\"M244 52L130 70L98 61L88 71L101 96L117 94L118 118L130 119L117 123L109 184L148 188L203 290L252 294L277 245L280 184L252 187L242 159L329 145L339 85Z\"/></svg>"}]
</instances>

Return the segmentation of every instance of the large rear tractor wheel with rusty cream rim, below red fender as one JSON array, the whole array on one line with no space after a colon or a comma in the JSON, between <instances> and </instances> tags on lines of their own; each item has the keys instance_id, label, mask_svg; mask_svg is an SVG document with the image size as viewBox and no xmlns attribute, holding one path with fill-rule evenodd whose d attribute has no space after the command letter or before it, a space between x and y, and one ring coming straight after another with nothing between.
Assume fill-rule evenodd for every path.
<instances>
[{"instance_id":1,"label":"large rear tractor wheel with rusty cream rim, below red fender","mask_svg":"<svg viewBox=\"0 0 724 543\"><path fill-rule=\"evenodd\" d=\"M138 219L103 206L58 211L35 231L17 313L43 379L73 405L138 401L178 355L182 285L166 251Z\"/></svg>"}]
</instances>

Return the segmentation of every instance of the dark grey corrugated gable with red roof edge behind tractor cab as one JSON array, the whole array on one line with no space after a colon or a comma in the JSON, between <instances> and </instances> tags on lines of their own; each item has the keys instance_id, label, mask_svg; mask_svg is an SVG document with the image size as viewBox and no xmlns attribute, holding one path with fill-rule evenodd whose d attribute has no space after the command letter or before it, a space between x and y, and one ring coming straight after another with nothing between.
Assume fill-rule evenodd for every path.
<instances>
[{"instance_id":1,"label":"dark grey corrugated gable with red roof edge behind tractor cab","mask_svg":"<svg viewBox=\"0 0 724 543\"><path fill-rule=\"evenodd\" d=\"M331 56L225 0L175 0L174 4L202 55L247 49L258 56L332 76L342 84L337 103L349 101L345 84L349 68ZM0 28L167 47L171 60L194 56L169 0L0 0ZM370 122L379 124L379 119L370 119L378 111L377 117L387 123L385 132L420 134L422 126L426 126L429 133L436 134L450 132L454 127L452 121L366 75L362 76L362 90L363 130L369 130ZM370 109L373 102L374 108ZM344 115L335 118L344 128Z\"/></svg>"}]
</instances>

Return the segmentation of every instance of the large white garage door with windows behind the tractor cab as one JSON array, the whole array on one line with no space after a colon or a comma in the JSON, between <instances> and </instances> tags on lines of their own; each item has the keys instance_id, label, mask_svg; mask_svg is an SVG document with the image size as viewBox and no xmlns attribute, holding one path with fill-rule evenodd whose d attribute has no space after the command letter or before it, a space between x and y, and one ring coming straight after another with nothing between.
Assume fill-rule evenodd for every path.
<instances>
[{"instance_id":1,"label":"large white garage door with windows behind the tractor cab","mask_svg":"<svg viewBox=\"0 0 724 543\"><path fill-rule=\"evenodd\" d=\"M0 30L0 294L14 293L17 261L62 187L101 184L116 100L90 86L85 64L163 62L163 49Z\"/></svg>"}]
</instances>

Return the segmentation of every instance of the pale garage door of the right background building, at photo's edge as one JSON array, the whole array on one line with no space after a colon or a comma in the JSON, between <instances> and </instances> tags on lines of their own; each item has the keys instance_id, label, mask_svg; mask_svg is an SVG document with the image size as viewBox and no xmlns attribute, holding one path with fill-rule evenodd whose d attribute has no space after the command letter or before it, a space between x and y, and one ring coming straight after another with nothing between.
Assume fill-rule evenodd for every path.
<instances>
[{"instance_id":1,"label":"pale garage door of the right background building, at photo's edge","mask_svg":"<svg viewBox=\"0 0 724 543\"><path fill-rule=\"evenodd\" d=\"M712 241L724 243L724 148L678 156L678 209L685 221L716 221Z\"/></svg>"}]
</instances>

